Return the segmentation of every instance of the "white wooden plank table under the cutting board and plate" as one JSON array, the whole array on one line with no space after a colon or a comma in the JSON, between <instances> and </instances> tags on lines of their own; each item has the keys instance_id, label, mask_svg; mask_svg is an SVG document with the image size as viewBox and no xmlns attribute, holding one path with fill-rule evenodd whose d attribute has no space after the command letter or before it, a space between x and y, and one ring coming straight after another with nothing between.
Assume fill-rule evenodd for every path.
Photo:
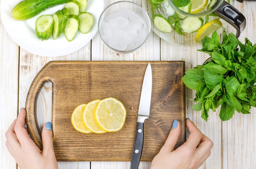
<instances>
[{"instance_id":1,"label":"white wooden plank table under the cutting board and plate","mask_svg":"<svg viewBox=\"0 0 256 169\"><path fill-rule=\"evenodd\" d=\"M105 7L116 0L105 0ZM133 0L141 4L141 0ZM248 37L256 43L255 16L256 2L235 1L234 7L241 11L246 19L246 29L240 36L244 42ZM117 54L101 41L97 33L94 38L79 51L67 56L41 57L20 48L8 36L0 20L0 169L16 169L16 162L5 147L5 132L11 122L17 118L18 111L25 107L29 86L36 73L50 60L184 60L185 69L202 64L209 56L197 51L201 45L180 47L159 38L153 31L146 44L134 53ZM46 83L38 98L39 126L51 119L51 84ZM189 99L194 91L186 89L186 117L195 122L214 146L211 156L201 169L254 169L256 167L256 108L251 114L235 113L234 117L222 122L216 112L209 113L209 120L202 120L201 112L192 110ZM171 124L171 122L170 122ZM59 169L128 169L130 162L58 162ZM149 169L150 162L141 162L139 169Z\"/></svg>"}]
</instances>

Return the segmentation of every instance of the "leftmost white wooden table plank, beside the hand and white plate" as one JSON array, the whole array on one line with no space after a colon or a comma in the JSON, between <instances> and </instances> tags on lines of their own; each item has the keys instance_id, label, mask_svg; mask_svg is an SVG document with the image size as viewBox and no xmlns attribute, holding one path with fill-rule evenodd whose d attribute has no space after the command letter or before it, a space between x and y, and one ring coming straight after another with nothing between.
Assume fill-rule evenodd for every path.
<instances>
[{"instance_id":1,"label":"leftmost white wooden table plank, beside the hand and white plate","mask_svg":"<svg viewBox=\"0 0 256 169\"><path fill-rule=\"evenodd\" d=\"M0 17L0 168L16 169L16 162L5 146L5 132L18 114L19 47L8 36Z\"/></svg>"}]
</instances>

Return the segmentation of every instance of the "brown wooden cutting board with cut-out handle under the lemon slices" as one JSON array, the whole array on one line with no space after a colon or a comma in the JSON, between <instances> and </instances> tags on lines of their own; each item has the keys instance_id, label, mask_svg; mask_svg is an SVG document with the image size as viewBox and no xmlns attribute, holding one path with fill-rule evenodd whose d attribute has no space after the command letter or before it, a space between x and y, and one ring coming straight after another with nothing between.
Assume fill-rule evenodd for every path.
<instances>
[{"instance_id":1,"label":"brown wooden cutting board with cut-out handle under the lemon slices","mask_svg":"<svg viewBox=\"0 0 256 169\"><path fill-rule=\"evenodd\" d=\"M137 125L141 87L148 62L52 61L33 80L26 100L31 138L42 148L36 121L36 99L52 82L52 130L58 161L130 161ZM151 161L164 144L173 120L182 131L176 147L186 140L184 61L152 61L150 117L144 123L141 161ZM71 123L74 109L94 99L114 97L126 107L124 127L115 133L79 133Z\"/></svg>"}]
</instances>

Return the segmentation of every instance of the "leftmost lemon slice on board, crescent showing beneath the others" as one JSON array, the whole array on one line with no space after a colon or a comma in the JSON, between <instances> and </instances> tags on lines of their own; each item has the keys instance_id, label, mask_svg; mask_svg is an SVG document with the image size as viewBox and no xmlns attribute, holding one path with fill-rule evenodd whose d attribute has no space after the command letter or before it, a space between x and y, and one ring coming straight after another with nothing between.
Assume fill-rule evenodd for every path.
<instances>
[{"instance_id":1,"label":"leftmost lemon slice on board, crescent showing beneath the others","mask_svg":"<svg viewBox=\"0 0 256 169\"><path fill-rule=\"evenodd\" d=\"M81 133L92 133L84 124L83 122L83 110L85 109L86 104L82 104L77 106L71 116L71 122L73 127L81 132Z\"/></svg>"}]
</instances>

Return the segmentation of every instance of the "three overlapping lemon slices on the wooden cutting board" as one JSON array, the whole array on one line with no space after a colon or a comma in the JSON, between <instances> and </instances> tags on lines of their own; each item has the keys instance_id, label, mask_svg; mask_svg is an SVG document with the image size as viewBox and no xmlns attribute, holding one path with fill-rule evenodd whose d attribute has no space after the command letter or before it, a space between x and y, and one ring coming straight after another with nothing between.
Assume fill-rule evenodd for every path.
<instances>
[{"instance_id":1,"label":"three overlapping lemon slices on the wooden cutting board","mask_svg":"<svg viewBox=\"0 0 256 169\"><path fill-rule=\"evenodd\" d=\"M126 109L115 98L93 100L77 106L71 116L71 122L81 133L106 133L119 131L126 120Z\"/></svg>"}]
</instances>

